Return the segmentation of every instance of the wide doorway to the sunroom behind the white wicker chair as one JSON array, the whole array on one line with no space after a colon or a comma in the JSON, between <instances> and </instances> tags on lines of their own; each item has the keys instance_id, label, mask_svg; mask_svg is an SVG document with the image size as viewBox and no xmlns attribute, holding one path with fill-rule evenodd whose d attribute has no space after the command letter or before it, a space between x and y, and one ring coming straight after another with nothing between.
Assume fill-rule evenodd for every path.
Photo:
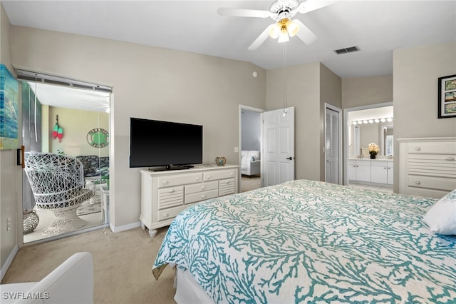
<instances>
[{"instance_id":1,"label":"wide doorway to the sunroom behind the white wicker chair","mask_svg":"<svg viewBox=\"0 0 456 304\"><path fill-rule=\"evenodd\" d=\"M108 226L110 88L31 73L18 71L24 151L76 158L83 166L83 186L92 189L94 196L76 210L86 222L82 228L44 233L55 213L37 208L23 171L24 214L38 216L36 227L24 233L23 242L41 243Z\"/></svg>"}]
</instances>

